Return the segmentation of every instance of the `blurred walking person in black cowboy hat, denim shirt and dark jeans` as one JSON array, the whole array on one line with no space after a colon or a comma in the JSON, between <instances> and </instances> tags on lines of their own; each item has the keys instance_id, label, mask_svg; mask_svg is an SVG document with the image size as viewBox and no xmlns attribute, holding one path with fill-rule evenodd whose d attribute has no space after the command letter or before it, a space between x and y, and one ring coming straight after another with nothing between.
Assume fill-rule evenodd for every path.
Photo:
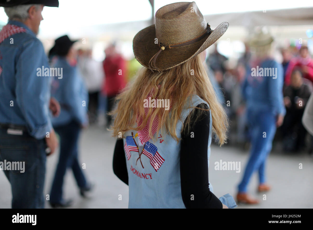
<instances>
[{"instance_id":1,"label":"blurred walking person in black cowboy hat, denim shirt and dark jeans","mask_svg":"<svg viewBox=\"0 0 313 230\"><path fill-rule=\"evenodd\" d=\"M62 197L67 168L73 171L82 196L92 188L78 161L80 130L88 125L88 94L76 65L76 53L72 46L74 42L64 35L55 40L55 45L50 51L55 54L53 67L62 69L63 73L62 76L54 77L51 89L51 94L61 105L59 117L52 119L54 129L60 136L59 162L50 192L52 207L68 207L72 203L72 200L64 200Z\"/></svg>"}]
</instances>

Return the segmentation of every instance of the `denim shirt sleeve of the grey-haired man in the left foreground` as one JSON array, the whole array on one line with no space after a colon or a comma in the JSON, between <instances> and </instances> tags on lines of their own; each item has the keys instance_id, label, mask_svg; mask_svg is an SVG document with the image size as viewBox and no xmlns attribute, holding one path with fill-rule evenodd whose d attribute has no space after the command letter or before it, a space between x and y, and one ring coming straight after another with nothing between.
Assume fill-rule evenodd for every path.
<instances>
[{"instance_id":1,"label":"denim shirt sleeve of the grey-haired man in the left foreground","mask_svg":"<svg viewBox=\"0 0 313 230\"><path fill-rule=\"evenodd\" d=\"M42 43L34 38L23 45L16 63L17 103L26 120L29 134L42 139L51 131L49 117L50 79L37 76L38 68L48 67L48 60Z\"/></svg>"}]
</instances>

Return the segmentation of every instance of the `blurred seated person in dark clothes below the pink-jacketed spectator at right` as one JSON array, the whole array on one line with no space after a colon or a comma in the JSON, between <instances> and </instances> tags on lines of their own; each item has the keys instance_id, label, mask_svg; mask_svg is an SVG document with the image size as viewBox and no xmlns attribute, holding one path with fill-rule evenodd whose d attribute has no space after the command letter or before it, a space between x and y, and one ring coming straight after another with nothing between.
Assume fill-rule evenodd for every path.
<instances>
[{"instance_id":1,"label":"blurred seated person in dark clothes below the pink-jacketed spectator at right","mask_svg":"<svg viewBox=\"0 0 313 230\"><path fill-rule=\"evenodd\" d=\"M284 151L298 152L305 145L306 130L301 119L310 95L310 87L303 82L301 69L295 69L290 85L284 87L286 115L281 127Z\"/></svg>"}]
</instances>

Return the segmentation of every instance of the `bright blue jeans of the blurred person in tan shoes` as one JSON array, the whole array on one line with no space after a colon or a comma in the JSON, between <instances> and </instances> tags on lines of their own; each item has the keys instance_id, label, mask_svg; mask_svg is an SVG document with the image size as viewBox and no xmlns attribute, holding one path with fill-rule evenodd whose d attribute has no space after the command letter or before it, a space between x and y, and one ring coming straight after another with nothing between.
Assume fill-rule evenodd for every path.
<instances>
[{"instance_id":1,"label":"bright blue jeans of the blurred person in tan shoes","mask_svg":"<svg viewBox=\"0 0 313 230\"><path fill-rule=\"evenodd\" d=\"M256 170L259 172L259 183L266 181L265 163L276 132L276 118L271 112L248 110L247 116L251 128L251 150L244 177L238 186L239 192L247 192L249 180Z\"/></svg>"}]
</instances>

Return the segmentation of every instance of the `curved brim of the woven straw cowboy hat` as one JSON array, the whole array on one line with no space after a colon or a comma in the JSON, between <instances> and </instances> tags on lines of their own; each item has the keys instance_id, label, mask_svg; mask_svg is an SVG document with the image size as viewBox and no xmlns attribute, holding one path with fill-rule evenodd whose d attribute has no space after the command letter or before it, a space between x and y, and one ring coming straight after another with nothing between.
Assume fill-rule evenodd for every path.
<instances>
[{"instance_id":1,"label":"curved brim of the woven straw cowboy hat","mask_svg":"<svg viewBox=\"0 0 313 230\"><path fill-rule=\"evenodd\" d=\"M189 59L200 54L210 45L220 38L228 28L228 22L223 22L218 25L211 33L203 39L182 47L165 49L158 55L156 59L156 67L159 71L172 69L178 65L187 62ZM156 54L160 47L155 44L156 32L155 25L151 25L139 31L133 40L133 51L135 58L140 64L149 68L151 57ZM162 42L162 41L161 41ZM153 70L157 70L152 68Z\"/></svg>"}]
</instances>

